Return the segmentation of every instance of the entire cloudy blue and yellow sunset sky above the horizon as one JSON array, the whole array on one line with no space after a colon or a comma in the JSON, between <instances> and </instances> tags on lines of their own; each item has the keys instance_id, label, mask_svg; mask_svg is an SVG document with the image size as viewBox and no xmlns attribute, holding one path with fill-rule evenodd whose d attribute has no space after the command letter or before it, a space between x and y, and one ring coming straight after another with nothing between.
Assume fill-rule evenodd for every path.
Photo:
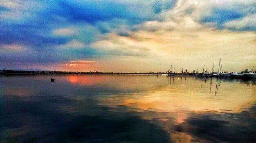
<instances>
[{"instance_id":1,"label":"entire cloudy blue and yellow sunset sky above the horizon","mask_svg":"<svg viewBox=\"0 0 256 143\"><path fill-rule=\"evenodd\" d=\"M0 69L244 71L255 0L0 0Z\"/></svg>"}]
</instances>

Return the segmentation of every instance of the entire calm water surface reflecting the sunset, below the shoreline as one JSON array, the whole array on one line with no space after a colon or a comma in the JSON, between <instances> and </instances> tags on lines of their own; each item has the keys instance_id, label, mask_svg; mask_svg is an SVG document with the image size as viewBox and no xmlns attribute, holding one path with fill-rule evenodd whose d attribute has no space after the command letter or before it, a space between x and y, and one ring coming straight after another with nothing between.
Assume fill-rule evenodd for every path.
<instances>
[{"instance_id":1,"label":"entire calm water surface reflecting the sunset, below the shoreline","mask_svg":"<svg viewBox=\"0 0 256 143\"><path fill-rule=\"evenodd\" d=\"M255 143L256 81L2 75L0 142Z\"/></svg>"}]
</instances>

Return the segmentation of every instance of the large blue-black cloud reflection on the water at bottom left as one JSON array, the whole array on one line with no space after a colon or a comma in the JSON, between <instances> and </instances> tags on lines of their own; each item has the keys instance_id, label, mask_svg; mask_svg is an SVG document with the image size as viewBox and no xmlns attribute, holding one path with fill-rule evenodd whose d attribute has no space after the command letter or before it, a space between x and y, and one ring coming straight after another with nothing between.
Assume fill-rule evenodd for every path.
<instances>
[{"instance_id":1,"label":"large blue-black cloud reflection on the water at bottom left","mask_svg":"<svg viewBox=\"0 0 256 143\"><path fill-rule=\"evenodd\" d=\"M60 104L50 97L40 97L36 101L28 98L24 102L17 99L7 102L9 108L6 104L0 104L0 108L5 111L5 116L0 117L1 141L166 143L170 140L165 130L135 113L125 112L124 106L112 111L90 100L73 103L76 112L67 113L59 110L60 106L66 104ZM72 101L63 99L61 102Z\"/></svg>"}]
</instances>

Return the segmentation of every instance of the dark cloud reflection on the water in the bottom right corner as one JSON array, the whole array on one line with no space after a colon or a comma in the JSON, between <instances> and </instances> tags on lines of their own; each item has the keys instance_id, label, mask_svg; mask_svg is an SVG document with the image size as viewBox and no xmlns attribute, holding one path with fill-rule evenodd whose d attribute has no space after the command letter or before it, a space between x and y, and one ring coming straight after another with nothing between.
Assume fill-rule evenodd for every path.
<instances>
[{"instance_id":1,"label":"dark cloud reflection on the water in the bottom right corner","mask_svg":"<svg viewBox=\"0 0 256 143\"><path fill-rule=\"evenodd\" d=\"M193 114L182 123L179 132L186 132L195 141L202 142L256 142L256 107L241 113L226 115L205 113Z\"/></svg>"}]
</instances>

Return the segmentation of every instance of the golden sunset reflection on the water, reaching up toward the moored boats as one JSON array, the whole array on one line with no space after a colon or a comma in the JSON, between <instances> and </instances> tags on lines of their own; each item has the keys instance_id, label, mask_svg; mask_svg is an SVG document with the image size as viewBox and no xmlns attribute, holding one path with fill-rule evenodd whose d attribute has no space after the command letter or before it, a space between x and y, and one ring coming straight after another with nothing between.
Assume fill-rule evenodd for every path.
<instances>
[{"instance_id":1,"label":"golden sunset reflection on the water, reaching up toward the moored boats","mask_svg":"<svg viewBox=\"0 0 256 143\"><path fill-rule=\"evenodd\" d=\"M213 87L216 86L216 83L210 85L209 81L203 80L203 86L201 87L200 80L193 81L193 77L186 77L186 81L181 81L180 78L176 79L176 83L171 83L169 87L166 85L161 87L148 85L140 87L145 92L134 92L121 98L115 98L115 95L112 95L111 98L101 98L99 100L111 104L111 106L114 104L124 105L142 110L170 112L182 109L229 113L239 113L256 101L255 90L248 90L247 95L244 95L243 88L247 88L249 86L247 84L235 82L229 85L222 81L218 92L215 93ZM127 82L126 86L132 87L128 84L135 85L136 82ZM135 90L137 87L133 88ZM211 91L210 88L212 88Z\"/></svg>"}]
</instances>

